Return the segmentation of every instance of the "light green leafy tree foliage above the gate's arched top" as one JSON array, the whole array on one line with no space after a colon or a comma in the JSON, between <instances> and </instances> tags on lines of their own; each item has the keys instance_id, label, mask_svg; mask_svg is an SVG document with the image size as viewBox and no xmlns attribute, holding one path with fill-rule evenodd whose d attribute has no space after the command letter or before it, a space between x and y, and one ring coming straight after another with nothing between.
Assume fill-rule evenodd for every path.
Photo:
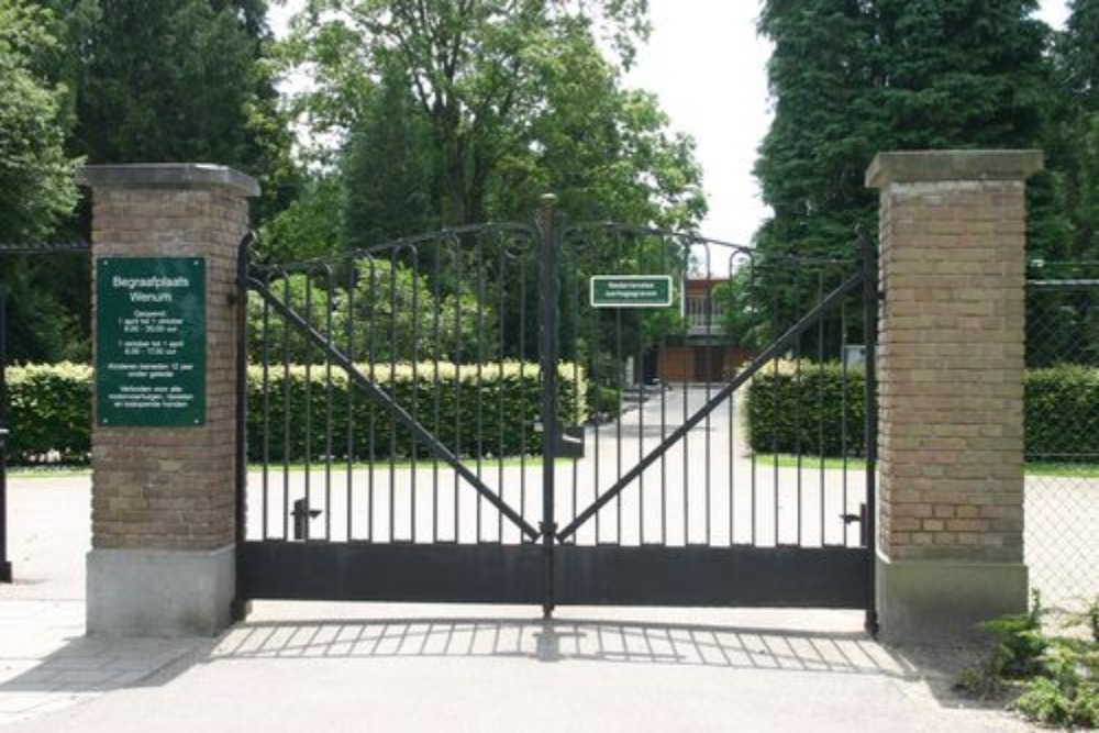
<instances>
[{"instance_id":1,"label":"light green leafy tree foliage above the gate's arched top","mask_svg":"<svg viewBox=\"0 0 1099 733\"><path fill-rule=\"evenodd\" d=\"M582 215L697 222L691 141L621 82L645 5L312 2L286 58L314 81L297 109L314 158L343 173L348 244L526 219L546 190ZM337 156L333 138L346 143Z\"/></svg>"}]
</instances>

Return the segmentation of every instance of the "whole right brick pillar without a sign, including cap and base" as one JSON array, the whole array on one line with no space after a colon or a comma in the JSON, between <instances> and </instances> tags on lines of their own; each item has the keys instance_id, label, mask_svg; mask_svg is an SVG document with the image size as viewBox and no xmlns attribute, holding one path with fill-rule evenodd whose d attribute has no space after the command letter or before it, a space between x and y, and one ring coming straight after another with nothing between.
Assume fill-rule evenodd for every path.
<instances>
[{"instance_id":1,"label":"whole right brick pillar without a sign, including cap and base","mask_svg":"<svg viewBox=\"0 0 1099 733\"><path fill-rule=\"evenodd\" d=\"M877 608L893 643L1026 607L1025 179L1037 151L879 154Z\"/></svg>"}]
</instances>

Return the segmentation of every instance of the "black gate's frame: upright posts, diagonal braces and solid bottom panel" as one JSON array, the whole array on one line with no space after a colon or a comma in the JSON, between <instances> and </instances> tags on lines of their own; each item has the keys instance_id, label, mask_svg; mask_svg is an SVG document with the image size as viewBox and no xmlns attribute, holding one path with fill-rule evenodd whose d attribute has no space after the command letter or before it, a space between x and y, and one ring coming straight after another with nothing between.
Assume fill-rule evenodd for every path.
<instances>
[{"instance_id":1,"label":"black gate's frame: upright posts, diagonal braces and solid bottom panel","mask_svg":"<svg viewBox=\"0 0 1099 733\"><path fill-rule=\"evenodd\" d=\"M543 200L536 232L542 273L539 301L539 352L542 374L542 421L548 436L562 432L557 395L560 343L560 231L552 197ZM862 292L864 319L877 323L877 265L869 237L859 235L862 267L831 295L756 355L660 445L588 506L574 521L558 527L554 520L556 440L543 452L542 522L532 526L485 486L446 445L364 375L331 340L287 308L262 276L249 267L254 237L240 252L240 399L237 558L238 597L245 599L342 599L539 604L550 615L558 604L765 606L851 608L867 611L874 625L874 554L876 507L876 327L868 327L864 400L866 419L866 501L859 513L844 515L859 522L861 546L622 546L574 544L577 530L619 496L646 467L730 399L764 365L784 354L799 337L851 293ZM288 542L247 540L245 368L248 293L265 308L293 324L296 332L342 368L389 417L410 430L420 443L514 523L524 535L518 545L459 544L457 541L419 543Z\"/></svg>"}]
</instances>

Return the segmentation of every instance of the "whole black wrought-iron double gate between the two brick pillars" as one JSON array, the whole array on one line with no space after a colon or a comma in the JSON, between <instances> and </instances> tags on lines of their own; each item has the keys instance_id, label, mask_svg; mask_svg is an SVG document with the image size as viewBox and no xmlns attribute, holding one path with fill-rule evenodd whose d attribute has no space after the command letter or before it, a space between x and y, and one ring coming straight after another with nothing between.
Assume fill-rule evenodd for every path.
<instances>
[{"instance_id":1,"label":"whole black wrought-iron double gate between the two brick pillars","mask_svg":"<svg viewBox=\"0 0 1099 733\"><path fill-rule=\"evenodd\" d=\"M867 243L763 257L547 201L333 259L249 244L242 598L872 608ZM600 307L596 275L673 304Z\"/></svg>"}]
</instances>

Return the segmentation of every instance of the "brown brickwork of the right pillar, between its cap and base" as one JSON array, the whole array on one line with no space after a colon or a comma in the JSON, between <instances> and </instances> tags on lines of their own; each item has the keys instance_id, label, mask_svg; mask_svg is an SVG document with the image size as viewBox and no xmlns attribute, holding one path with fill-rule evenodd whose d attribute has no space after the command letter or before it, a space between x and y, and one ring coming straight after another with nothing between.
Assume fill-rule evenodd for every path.
<instances>
[{"instance_id":1,"label":"brown brickwork of the right pillar, between its cap and base","mask_svg":"<svg viewBox=\"0 0 1099 733\"><path fill-rule=\"evenodd\" d=\"M1024 175L882 187L880 547L1022 559Z\"/></svg>"}]
</instances>

